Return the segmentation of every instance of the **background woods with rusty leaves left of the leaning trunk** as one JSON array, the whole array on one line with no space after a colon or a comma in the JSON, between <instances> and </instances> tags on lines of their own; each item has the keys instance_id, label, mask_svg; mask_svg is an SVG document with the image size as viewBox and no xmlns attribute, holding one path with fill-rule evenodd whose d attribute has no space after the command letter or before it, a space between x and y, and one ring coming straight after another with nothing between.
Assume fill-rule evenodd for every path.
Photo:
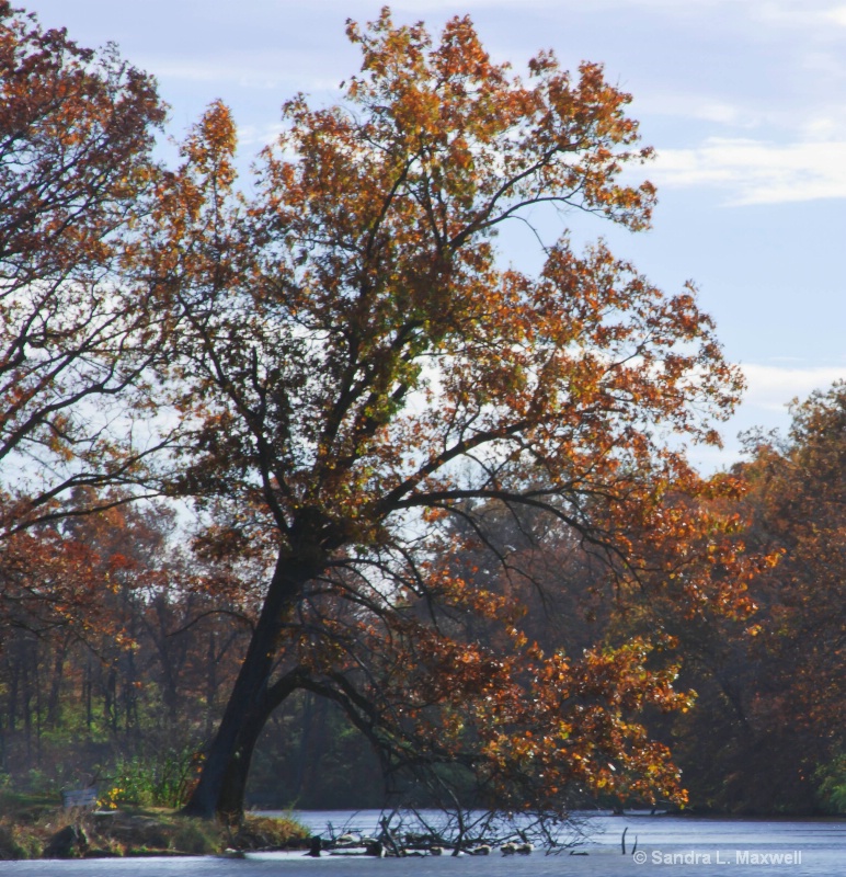
<instances>
[{"instance_id":1,"label":"background woods with rusty leaves left of the leaning trunk","mask_svg":"<svg viewBox=\"0 0 846 877\"><path fill-rule=\"evenodd\" d=\"M91 493L77 488L76 509L3 543L0 771L44 793L100 774L148 804L157 776L178 771L179 788L158 786L174 806L219 720L254 597L179 544L172 510L93 511L105 503ZM32 789L31 770L54 785Z\"/></svg>"}]
</instances>

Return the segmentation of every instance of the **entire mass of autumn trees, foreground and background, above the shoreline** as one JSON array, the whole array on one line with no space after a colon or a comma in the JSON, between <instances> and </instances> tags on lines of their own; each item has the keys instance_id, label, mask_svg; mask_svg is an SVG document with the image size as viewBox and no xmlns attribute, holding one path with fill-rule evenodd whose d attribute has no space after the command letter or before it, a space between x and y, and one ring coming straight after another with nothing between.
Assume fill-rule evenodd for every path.
<instances>
[{"instance_id":1,"label":"entire mass of autumn trees, foreground and background, above the shoreline","mask_svg":"<svg viewBox=\"0 0 846 877\"><path fill-rule=\"evenodd\" d=\"M0 0L0 786L843 812L846 384L697 472L740 369L568 235L649 227L630 95L347 35L247 181L224 104L168 164L151 77Z\"/></svg>"}]
</instances>

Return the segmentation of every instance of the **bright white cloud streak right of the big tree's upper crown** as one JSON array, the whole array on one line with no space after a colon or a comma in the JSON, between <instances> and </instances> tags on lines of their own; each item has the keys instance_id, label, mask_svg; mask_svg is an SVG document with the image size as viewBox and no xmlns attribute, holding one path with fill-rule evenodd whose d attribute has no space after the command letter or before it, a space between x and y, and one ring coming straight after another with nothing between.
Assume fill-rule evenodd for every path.
<instances>
[{"instance_id":1,"label":"bright white cloud streak right of the big tree's upper crown","mask_svg":"<svg viewBox=\"0 0 846 877\"><path fill-rule=\"evenodd\" d=\"M660 150L651 175L667 187L724 190L732 205L846 198L846 140L711 137L693 149Z\"/></svg>"}]
</instances>

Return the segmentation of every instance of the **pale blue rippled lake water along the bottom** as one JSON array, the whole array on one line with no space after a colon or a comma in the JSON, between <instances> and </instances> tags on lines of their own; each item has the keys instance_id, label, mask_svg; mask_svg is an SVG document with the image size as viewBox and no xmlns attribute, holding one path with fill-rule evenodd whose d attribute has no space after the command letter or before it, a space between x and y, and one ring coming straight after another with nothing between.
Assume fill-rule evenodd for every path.
<instances>
[{"instance_id":1,"label":"pale blue rippled lake water along the bottom","mask_svg":"<svg viewBox=\"0 0 846 877\"><path fill-rule=\"evenodd\" d=\"M374 833L379 812L304 811L315 833ZM245 859L104 859L3 862L0 874L26 877L839 877L846 875L844 820L729 820L683 817L590 818L592 838L580 852L525 857L359 858L261 853ZM626 832L627 855L620 853ZM637 854L631 855L637 838ZM642 859L642 862L641 862Z\"/></svg>"}]
</instances>

